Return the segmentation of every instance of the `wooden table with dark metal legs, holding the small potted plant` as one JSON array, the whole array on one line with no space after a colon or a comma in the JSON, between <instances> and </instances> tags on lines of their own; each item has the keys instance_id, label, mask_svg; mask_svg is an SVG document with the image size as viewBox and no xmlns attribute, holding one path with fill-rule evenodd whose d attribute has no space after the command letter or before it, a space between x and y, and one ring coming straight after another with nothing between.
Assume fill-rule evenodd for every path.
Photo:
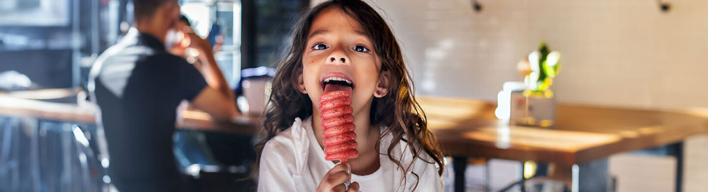
<instances>
[{"instance_id":1,"label":"wooden table with dark metal legs, holding the small potted plant","mask_svg":"<svg viewBox=\"0 0 708 192\"><path fill-rule=\"evenodd\" d=\"M572 182L573 165L596 167L593 161L615 153L680 144L689 136L708 133L708 109L703 108L559 104L554 128L537 128L503 124L494 116L496 104L488 102L440 97L418 97L418 101L447 154L552 163L556 165L555 178L573 187L578 186ZM683 145L676 147L680 191ZM604 164L606 172L606 159Z\"/></svg>"}]
</instances>

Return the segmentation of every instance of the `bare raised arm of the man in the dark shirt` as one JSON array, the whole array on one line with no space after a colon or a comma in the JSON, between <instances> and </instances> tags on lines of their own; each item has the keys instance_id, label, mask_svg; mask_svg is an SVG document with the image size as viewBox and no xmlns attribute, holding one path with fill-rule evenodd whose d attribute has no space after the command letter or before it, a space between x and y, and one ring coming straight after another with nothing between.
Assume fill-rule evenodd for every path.
<instances>
[{"instance_id":1,"label":"bare raised arm of the man in the dark shirt","mask_svg":"<svg viewBox=\"0 0 708 192\"><path fill-rule=\"evenodd\" d=\"M190 47L199 51L199 59L202 62L199 71L209 85L199 92L192 104L221 120L229 120L239 115L234 92L219 69L209 42L196 35L191 28L185 30L185 33L190 37Z\"/></svg>"}]
</instances>

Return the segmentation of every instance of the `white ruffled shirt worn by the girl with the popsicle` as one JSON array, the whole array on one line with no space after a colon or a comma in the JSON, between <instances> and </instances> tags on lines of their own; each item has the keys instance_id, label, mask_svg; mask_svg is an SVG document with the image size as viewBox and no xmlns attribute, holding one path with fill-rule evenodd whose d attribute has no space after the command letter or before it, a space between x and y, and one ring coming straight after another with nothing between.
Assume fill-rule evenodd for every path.
<instances>
[{"instance_id":1,"label":"white ruffled shirt worn by the girl with the popsicle","mask_svg":"<svg viewBox=\"0 0 708 192\"><path fill-rule=\"evenodd\" d=\"M382 131L384 128L381 129ZM392 134L381 140L381 153L386 153ZM406 167L411 163L413 154L404 142L399 142L398 149L392 150L393 157L401 160ZM401 155L405 152L405 155ZM423 152L425 153L425 152ZM433 162L429 155L422 155L428 162ZM416 191L442 191L438 175L438 164L427 163L416 158L406 181L403 171L387 155L381 155L381 167L368 175L352 174L352 181L357 181L360 191L411 191L419 181ZM261 155L258 176L258 191L316 191L319 182L334 163L324 160L324 150L319 146L312 130L312 116L301 121L295 119L292 127L282 131L265 143Z\"/></svg>"}]
</instances>

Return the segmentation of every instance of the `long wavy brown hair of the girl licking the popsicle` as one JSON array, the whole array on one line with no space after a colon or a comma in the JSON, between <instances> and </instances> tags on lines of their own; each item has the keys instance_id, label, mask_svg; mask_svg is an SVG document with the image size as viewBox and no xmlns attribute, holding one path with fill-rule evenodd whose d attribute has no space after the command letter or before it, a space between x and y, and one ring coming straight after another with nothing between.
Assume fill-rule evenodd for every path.
<instances>
[{"instance_id":1,"label":"long wavy brown hair of the girl licking the popsicle","mask_svg":"<svg viewBox=\"0 0 708 192\"><path fill-rule=\"evenodd\" d=\"M312 116L312 101L297 89L297 73L302 71L302 55L307 47L307 35L312 21L325 8L338 7L364 28L367 37L373 42L373 51L382 61L382 71L390 71L391 85L389 94L374 97L371 107L370 119L372 124L387 126L376 143L377 152L381 152L379 143L387 134L393 135L387 153L392 162L396 163L405 172L409 172L411 164L401 164L394 158L392 150L399 142L404 142L416 158L428 163L439 165L438 174L442 175L442 152L433 134L428 130L426 114L421 109L413 93L413 82L406 70L404 57L401 53L396 37L389 25L371 6L362 1L332 0L323 2L310 8L304 13L293 28L287 52L278 64L278 69L273 78L273 87L270 93L268 110L263 123L265 136L261 143L256 145L259 156L265 142L281 131L290 128L296 117L305 119ZM423 152L432 157L434 162L424 160ZM418 175L413 173L418 179ZM405 175L405 174L404 174ZM405 179L405 178L404 178ZM417 184L416 184L417 187Z\"/></svg>"}]
</instances>

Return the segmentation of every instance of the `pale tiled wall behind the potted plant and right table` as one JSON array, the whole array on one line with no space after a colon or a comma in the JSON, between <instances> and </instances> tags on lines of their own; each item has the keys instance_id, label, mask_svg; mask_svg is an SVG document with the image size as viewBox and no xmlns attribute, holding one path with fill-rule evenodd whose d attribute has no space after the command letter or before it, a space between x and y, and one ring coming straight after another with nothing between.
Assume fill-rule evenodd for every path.
<instances>
[{"instance_id":1,"label":"pale tiled wall behind the potted plant and right table","mask_svg":"<svg viewBox=\"0 0 708 192\"><path fill-rule=\"evenodd\" d=\"M562 54L559 102L708 107L708 1L663 1L666 13L654 0L479 0L480 12L471 0L368 2L392 25L419 94L496 101L544 41ZM685 191L702 191L708 137L686 150Z\"/></svg>"}]
</instances>

